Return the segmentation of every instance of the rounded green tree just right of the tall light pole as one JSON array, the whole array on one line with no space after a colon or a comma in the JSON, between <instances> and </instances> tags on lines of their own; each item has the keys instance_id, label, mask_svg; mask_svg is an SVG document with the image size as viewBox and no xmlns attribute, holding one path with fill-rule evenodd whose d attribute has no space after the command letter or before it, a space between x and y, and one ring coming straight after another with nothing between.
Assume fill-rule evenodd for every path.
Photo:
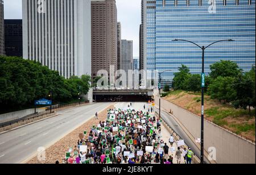
<instances>
[{"instance_id":1,"label":"rounded green tree just right of the tall light pole","mask_svg":"<svg viewBox=\"0 0 256 175\"><path fill-rule=\"evenodd\" d=\"M225 103L233 101L236 97L236 89L233 88L234 78L218 76L209 86L209 95L212 99L218 99Z\"/></svg>"}]
</instances>

